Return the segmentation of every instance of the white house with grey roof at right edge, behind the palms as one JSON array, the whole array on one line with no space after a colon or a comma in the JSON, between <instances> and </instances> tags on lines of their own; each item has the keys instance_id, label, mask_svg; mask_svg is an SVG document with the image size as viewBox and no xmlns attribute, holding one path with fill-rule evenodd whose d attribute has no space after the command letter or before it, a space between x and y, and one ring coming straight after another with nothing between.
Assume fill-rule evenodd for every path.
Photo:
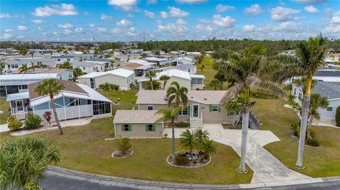
<instances>
[{"instance_id":1,"label":"white house with grey roof at right edge, behind the palms","mask_svg":"<svg viewBox=\"0 0 340 190\"><path fill-rule=\"evenodd\" d=\"M301 105L303 97L302 88L293 84L292 93L295 96L295 101ZM312 87L313 93L327 97L329 102L329 106L326 109L318 109L321 118L320 122L335 124L336 108L340 106L340 85L317 81Z\"/></svg>"}]
</instances>

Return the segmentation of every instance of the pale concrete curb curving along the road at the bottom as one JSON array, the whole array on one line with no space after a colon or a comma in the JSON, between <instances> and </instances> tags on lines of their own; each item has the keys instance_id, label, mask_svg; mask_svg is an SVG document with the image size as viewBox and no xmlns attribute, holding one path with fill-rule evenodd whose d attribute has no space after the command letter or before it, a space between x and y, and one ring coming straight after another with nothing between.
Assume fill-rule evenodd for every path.
<instances>
[{"instance_id":1,"label":"pale concrete curb curving along the road at the bottom","mask_svg":"<svg viewBox=\"0 0 340 190\"><path fill-rule=\"evenodd\" d=\"M262 188L271 186L287 186L294 184L312 184L318 182L331 182L340 181L340 177L322 177L311 179L297 179L289 181L278 182L261 182L254 184L184 184L173 182L157 182L147 181L142 179L130 179L124 177L113 177L102 174L91 174L87 172L79 172L76 170L69 170L63 167L50 165L47 173L60 175L62 177L69 177L88 182L96 182L98 184L106 184L121 187L133 187L138 189L249 189L249 188Z\"/></svg>"}]
</instances>

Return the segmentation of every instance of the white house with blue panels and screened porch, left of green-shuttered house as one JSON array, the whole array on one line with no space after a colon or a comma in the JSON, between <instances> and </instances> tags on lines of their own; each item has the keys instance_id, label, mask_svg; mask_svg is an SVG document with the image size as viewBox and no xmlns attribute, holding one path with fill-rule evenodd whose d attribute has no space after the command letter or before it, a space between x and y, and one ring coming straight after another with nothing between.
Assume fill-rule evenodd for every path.
<instances>
[{"instance_id":1,"label":"white house with blue panels and screened porch, left of green-shuttered house","mask_svg":"<svg viewBox=\"0 0 340 190\"><path fill-rule=\"evenodd\" d=\"M55 95L58 119L67 120L111 115L111 100L108 100L96 90L72 81L57 81L64 85L64 89ZM25 115L28 113L37 114L43 118L45 112L53 112L50 96L40 96L35 92L35 88L40 82L28 85L28 92L8 95L7 101L11 105L11 114L17 119L25 119ZM54 121L53 114L51 117L51 120Z\"/></svg>"}]
</instances>

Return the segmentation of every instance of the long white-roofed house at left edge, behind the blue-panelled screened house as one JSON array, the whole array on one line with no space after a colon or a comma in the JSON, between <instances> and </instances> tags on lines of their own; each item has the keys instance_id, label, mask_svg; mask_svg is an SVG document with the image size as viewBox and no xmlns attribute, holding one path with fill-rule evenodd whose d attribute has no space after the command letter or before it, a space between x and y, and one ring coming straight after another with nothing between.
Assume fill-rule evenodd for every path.
<instances>
[{"instance_id":1,"label":"long white-roofed house at left edge, behind the blue-panelled screened house","mask_svg":"<svg viewBox=\"0 0 340 190\"><path fill-rule=\"evenodd\" d=\"M28 91L28 85L47 78L58 78L57 73L0 75L0 95L6 97L13 93Z\"/></svg>"}]
</instances>

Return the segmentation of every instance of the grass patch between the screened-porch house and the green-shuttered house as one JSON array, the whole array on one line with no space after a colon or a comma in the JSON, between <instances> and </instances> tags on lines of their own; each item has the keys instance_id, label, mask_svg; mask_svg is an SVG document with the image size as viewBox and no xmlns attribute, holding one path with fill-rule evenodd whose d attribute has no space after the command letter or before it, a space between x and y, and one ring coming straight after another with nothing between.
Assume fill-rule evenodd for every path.
<instances>
[{"instance_id":1,"label":"grass patch between the screened-porch house and the green-shuttered house","mask_svg":"<svg viewBox=\"0 0 340 190\"><path fill-rule=\"evenodd\" d=\"M108 99L112 100L112 113L115 114L117 109L132 109L136 105L138 88L132 88L131 90L125 90L124 92L121 90L113 90L106 91L98 90L99 93L108 97ZM118 98L120 100L118 100ZM115 104L117 103L117 104ZM137 108L137 107L135 107Z\"/></svg>"}]
</instances>

